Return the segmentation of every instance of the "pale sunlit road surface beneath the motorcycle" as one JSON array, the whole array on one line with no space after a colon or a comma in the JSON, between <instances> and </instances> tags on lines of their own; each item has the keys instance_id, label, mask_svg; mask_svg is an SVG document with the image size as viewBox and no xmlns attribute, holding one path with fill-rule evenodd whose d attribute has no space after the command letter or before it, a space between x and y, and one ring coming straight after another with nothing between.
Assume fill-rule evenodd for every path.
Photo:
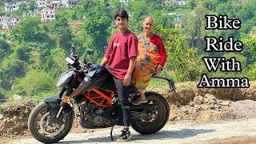
<instances>
[{"instance_id":1,"label":"pale sunlit road surface beneath the motorcycle","mask_svg":"<svg viewBox=\"0 0 256 144\"><path fill-rule=\"evenodd\" d=\"M120 127L114 128L114 139L120 134ZM131 130L133 137L130 143L218 143L218 139L252 138L256 136L256 118L237 119L230 121L210 122L203 124L191 124L182 122L166 124L156 134L142 135ZM92 133L68 134L58 143L114 143L110 140L110 129L95 131ZM17 144L40 143L34 138L21 139L7 142Z\"/></svg>"}]
</instances>

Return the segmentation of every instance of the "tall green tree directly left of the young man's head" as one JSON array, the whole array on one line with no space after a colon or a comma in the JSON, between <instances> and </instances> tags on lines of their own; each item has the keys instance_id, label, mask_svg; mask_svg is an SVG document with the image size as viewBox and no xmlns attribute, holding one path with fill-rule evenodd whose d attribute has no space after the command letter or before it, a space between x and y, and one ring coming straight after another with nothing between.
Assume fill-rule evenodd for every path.
<instances>
[{"instance_id":1,"label":"tall green tree directly left of the young man's head","mask_svg":"<svg viewBox=\"0 0 256 144\"><path fill-rule=\"evenodd\" d=\"M106 6L108 5L106 1L90 2L89 4L93 6L90 10L86 10L86 20L83 22L84 30L86 30L86 42L83 46L94 49L98 58L102 58L106 46L108 46L106 41L110 36L108 28L111 26L111 19L114 19L114 14L109 12L110 8Z\"/></svg>"}]
</instances>

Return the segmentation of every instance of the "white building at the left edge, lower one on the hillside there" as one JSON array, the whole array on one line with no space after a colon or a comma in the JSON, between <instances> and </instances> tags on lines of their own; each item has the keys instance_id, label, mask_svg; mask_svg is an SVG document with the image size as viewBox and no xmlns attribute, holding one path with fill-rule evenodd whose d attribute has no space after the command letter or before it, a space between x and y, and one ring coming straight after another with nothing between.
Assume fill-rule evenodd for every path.
<instances>
[{"instance_id":1,"label":"white building at the left edge, lower one on the hillside there","mask_svg":"<svg viewBox=\"0 0 256 144\"><path fill-rule=\"evenodd\" d=\"M16 17L6 17L0 16L0 25L2 29L9 29L10 26L17 26L19 23L19 19Z\"/></svg>"}]
</instances>

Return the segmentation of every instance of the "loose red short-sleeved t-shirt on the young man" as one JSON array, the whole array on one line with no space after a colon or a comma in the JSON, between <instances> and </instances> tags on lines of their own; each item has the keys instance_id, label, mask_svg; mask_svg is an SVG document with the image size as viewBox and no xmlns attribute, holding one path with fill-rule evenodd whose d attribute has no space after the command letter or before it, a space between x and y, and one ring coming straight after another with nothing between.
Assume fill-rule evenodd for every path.
<instances>
[{"instance_id":1,"label":"loose red short-sleeved t-shirt on the young man","mask_svg":"<svg viewBox=\"0 0 256 144\"><path fill-rule=\"evenodd\" d=\"M118 79L124 79L131 57L138 55L138 38L130 30L126 34L114 34L110 39L105 57L109 59L108 66Z\"/></svg>"}]
</instances>

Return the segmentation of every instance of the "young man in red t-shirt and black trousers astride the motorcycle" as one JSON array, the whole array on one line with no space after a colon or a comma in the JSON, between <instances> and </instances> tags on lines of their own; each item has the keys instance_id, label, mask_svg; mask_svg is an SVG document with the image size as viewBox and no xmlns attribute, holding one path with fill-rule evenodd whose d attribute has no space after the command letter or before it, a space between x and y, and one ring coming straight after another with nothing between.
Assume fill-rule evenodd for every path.
<instances>
[{"instance_id":1,"label":"young man in red t-shirt and black trousers astride the motorcycle","mask_svg":"<svg viewBox=\"0 0 256 144\"><path fill-rule=\"evenodd\" d=\"M126 10L119 10L114 18L119 31L110 39L105 58L103 58L101 64L102 66L107 64L114 75L114 83L118 90L118 98L122 108L119 121L121 120L124 126L117 142L124 142L131 138L129 130L130 103L128 97L131 74L138 55L138 38L128 30L129 16Z\"/></svg>"}]
</instances>

